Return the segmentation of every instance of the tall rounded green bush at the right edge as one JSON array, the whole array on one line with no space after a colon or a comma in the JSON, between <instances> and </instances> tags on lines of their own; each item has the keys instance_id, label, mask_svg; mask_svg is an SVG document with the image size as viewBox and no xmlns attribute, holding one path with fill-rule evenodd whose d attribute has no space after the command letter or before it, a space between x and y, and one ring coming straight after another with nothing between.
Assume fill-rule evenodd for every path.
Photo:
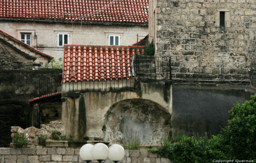
<instances>
[{"instance_id":1,"label":"tall rounded green bush at the right edge","mask_svg":"<svg viewBox=\"0 0 256 163\"><path fill-rule=\"evenodd\" d=\"M227 154L236 159L256 159L256 94L229 111L228 125L220 136L229 146Z\"/></svg>"}]
</instances>

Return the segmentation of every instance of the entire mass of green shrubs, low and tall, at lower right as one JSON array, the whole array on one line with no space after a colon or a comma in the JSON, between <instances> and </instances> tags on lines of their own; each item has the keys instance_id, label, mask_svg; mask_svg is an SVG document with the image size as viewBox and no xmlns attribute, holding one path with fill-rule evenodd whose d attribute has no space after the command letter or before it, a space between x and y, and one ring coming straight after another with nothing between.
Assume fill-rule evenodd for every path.
<instances>
[{"instance_id":1,"label":"entire mass of green shrubs, low and tall, at lower right","mask_svg":"<svg viewBox=\"0 0 256 163\"><path fill-rule=\"evenodd\" d=\"M211 139L207 133L198 140L180 136L177 143L163 141L161 147L148 151L178 163L208 163L213 159L256 162L256 94L250 101L235 105L229 114L228 125Z\"/></svg>"}]
</instances>

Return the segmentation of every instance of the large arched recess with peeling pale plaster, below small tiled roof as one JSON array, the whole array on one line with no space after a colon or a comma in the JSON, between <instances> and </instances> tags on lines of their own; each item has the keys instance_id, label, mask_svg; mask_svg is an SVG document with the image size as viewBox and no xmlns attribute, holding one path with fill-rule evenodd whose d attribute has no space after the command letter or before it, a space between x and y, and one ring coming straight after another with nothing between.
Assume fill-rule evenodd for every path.
<instances>
[{"instance_id":1,"label":"large arched recess with peeling pale plaster, below small tiled roof","mask_svg":"<svg viewBox=\"0 0 256 163\"><path fill-rule=\"evenodd\" d=\"M142 144L158 145L170 138L171 114L161 105L146 99L126 99L112 105L104 117L104 140L123 143L140 138Z\"/></svg>"}]
</instances>

